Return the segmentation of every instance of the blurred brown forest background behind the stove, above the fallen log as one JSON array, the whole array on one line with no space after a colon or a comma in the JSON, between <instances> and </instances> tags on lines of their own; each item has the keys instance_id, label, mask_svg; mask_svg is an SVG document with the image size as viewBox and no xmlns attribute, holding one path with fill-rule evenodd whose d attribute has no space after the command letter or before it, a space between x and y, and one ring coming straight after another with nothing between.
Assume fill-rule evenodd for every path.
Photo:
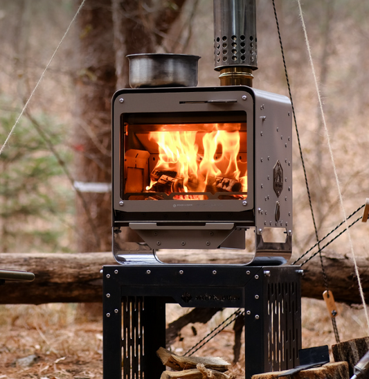
<instances>
[{"instance_id":1,"label":"blurred brown forest background behind the stove, above the fallen log","mask_svg":"<svg viewBox=\"0 0 369 379\"><path fill-rule=\"evenodd\" d=\"M0 0L1 145L79 3ZM119 3L86 1L0 155L0 252L110 250L110 194L78 193L73 182L110 181L109 99L115 89L127 86L127 53L201 55L199 86L219 85L213 69L212 0L123 1L125 12L111 12ZM253 87L288 96L272 1L256 3L259 69ZM312 206L323 237L343 219L334 171L298 4L277 0L276 9ZM369 2L309 0L303 12L349 215L369 197ZM123 17L125 29L113 30L114 17L116 24ZM129 29L129 20L142 28ZM367 228L359 222L350 229L358 256L368 252ZM294 131L294 256L315 242ZM329 248L349 256L348 233Z\"/></svg>"}]
</instances>

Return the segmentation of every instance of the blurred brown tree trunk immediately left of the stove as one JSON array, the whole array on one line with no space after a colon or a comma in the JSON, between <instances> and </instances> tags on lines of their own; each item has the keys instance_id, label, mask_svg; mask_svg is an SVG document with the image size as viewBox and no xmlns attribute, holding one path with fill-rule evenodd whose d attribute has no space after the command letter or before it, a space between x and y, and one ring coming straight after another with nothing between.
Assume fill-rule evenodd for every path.
<instances>
[{"instance_id":1,"label":"blurred brown tree trunk immediately left of the stove","mask_svg":"<svg viewBox=\"0 0 369 379\"><path fill-rule=\"evenodd\" d=\"M78 17L75 180L111 182L110 100L116 87L111 3L89 0ZM78 251L111 249L111 193L83 192L77 200Z\"/></svg>"}]
</instances>

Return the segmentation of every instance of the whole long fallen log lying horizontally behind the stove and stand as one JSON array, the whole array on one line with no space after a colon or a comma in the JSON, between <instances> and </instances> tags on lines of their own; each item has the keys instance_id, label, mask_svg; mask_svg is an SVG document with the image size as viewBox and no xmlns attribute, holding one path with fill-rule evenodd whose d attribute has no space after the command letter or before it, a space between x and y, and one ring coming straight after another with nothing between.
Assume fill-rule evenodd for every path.
<instances>
[{"instance_id":1,"label":"whole long fallen log lying horizontally behind the stove and stand","mask_svg":"<svg viewBox=\"0 0 369 379\"><path fill-rule=\"evenodd\" d=\"M170 256L168 263L199 262L199 252L186 252ZM323 264L330 285L337 302L361 303L357 279L354 274L352 260L346 256L324 252ZM226 256L214 259L210 263L244 263L244 255L229 252ZM103 265L114 265L113 255L107 253L1 253L0 267L8 270L26 270L36 276L31 283L7 281L0 292L0 303L89 303L102 301L102 276L100 270ZM361 283L364 294L369 294L369 260L357 258ZM318 257L303 266L305 275L302 280L303 297L322 299L323 276L321 263ZM369 297L368 297L369 299ZM369 301L369 300L368 300Z\"/></svg>"}]
</instances>

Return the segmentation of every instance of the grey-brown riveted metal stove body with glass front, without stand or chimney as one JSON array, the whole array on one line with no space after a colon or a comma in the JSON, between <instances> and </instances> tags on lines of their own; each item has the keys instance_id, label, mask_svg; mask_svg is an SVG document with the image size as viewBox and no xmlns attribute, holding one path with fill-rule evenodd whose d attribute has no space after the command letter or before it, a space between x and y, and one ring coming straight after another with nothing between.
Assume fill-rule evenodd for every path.
<instances>
[{"instance_id":1,"label":"grey-brown riveted metal stove body with glass front, without stand or chimney","mask_svg":"<svg viewBox=\"0 0 369 379\"><path fill-rule=\"evenodd\" d=\"M246 86L122 89L112 118L118 263L158 263L156 249L244 249L247 229L253 264L288 261L288 98ZM285 241L264 240L269 228Z\"/></svg>"}]
</instances>

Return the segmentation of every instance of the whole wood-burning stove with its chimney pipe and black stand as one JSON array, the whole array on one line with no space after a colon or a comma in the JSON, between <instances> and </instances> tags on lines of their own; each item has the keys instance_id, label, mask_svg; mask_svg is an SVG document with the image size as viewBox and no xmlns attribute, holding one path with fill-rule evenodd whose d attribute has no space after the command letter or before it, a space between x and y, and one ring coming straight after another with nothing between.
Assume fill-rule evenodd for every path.
<instances>
[{"instance_id":1,"label":"whole wood-burning stove with its chimney pipe and black stand","mask_svg":"<svg viewBox=\"0 0 369 379\"><path fill-rule=\"evenodd\" d=\"M163 87L135 75L135 88L112 100L113 252L120 264L103 270L105 379L159 378L165 368L155 352L165 345L166 303L244 308L247 379L298 364L303 271L282 265L291 256L291 103L251 88L255 0L214 0L214 15L221 87L178 87L170 55L159 65L164 77L154 80ZM150 69L154 57L141 58L139 66ZM156 257L158 249L245 249L249 230L251 263L163 264ZM282 242L265 238L270 230L284 231Z\"/></svg>"}]
</instances>

